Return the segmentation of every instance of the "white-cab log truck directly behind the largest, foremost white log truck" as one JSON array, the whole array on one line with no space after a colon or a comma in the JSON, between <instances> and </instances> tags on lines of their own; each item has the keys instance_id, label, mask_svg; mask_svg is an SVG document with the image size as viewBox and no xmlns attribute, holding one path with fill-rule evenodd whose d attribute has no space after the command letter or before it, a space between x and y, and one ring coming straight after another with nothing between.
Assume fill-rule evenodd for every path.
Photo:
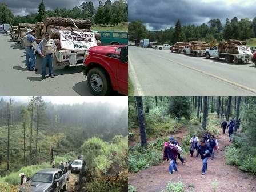
<instances>
[{"instance_id":1,"label":"white-cab log truck directly behind the largest, foremost white log truck","mask_svg":"<svg viewBox=\"0 0 256 192\"><path fill-rule=\"evenodd\" d=\"M205 50L209 49L210 45L205 42L192 41L191 45L187 45L183 48L183 54L192 54L194 57L203 56Z\"/></svg>"}]
</instances>

